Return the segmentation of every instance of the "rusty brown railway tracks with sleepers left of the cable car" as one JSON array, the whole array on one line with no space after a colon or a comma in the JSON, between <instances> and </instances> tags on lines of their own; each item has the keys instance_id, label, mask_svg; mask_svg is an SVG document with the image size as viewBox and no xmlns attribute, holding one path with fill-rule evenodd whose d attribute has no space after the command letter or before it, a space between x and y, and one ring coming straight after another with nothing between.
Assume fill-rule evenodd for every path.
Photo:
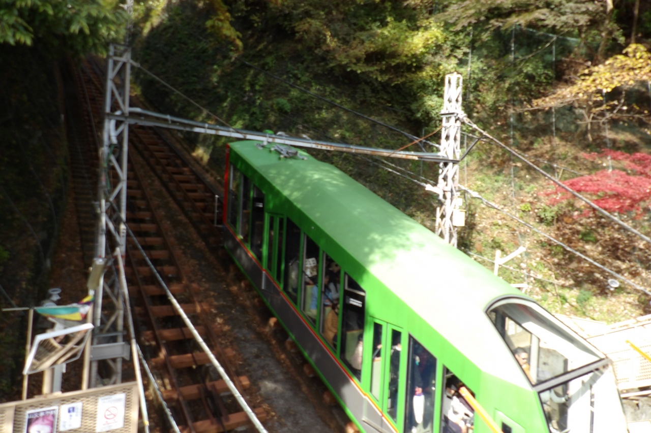
<instances>
[{"instance_id":1,"label":"rusty brown railway tracks with sleepers left of the cable car","mask_svg":"<svg viewBox=\"0 0 651 433\"><path fill-rule=\"evenodd\" d=\"M70 114L83 115L85 125L77 122L75 131L78 134L85 131L86 146L92 146L92 150L96 146L95 137L102 120L104 90L99 72L97 65L84 62L74 73L77 94L81 95L82 103L87 108L85 113L79 113L82 110L77 109L77 113ZM79 140L80 149L83 147L82 141ZM130 148L137 149L139 155L131 151L128 164L126 220L144 254L137 248L135 241L128 238L125 273L132 299L137 302L137 328L144 328L140 332L139 341L143 351L150 356L150 368L158 376L163 398L171 408L180 430L184 433L223 432L247 425L249 419L170 304L158 278L145 260L146 256L154 265L215 358L225 367L230 379L242 393L249 386L249 380L246 376L236 375L229 361L233 356L232 350L220 346L217 338L219 329L210 321L209 309L198 300L197 293L201 288L182 267L175 244L167 236L165 221L159 217L156 202L152 201L151 192L143 182L146 161L184 211L189 222L201 233L202 239L211 249L217 250L221 244L221 233L214 225L215 195L221 194L215 185L209 185L195 174L182 154L174 151L171 146L165 135L151 128L136 126L130 129ZM89 161L89 153L96 155L96 151L86 150L86 158L79 157L73 163L96 166L96 158ZM81 151L79 153L84 154ZM75 170L79 172L79 185L83 187L83 170ZM89 178L87 183L96 185L95 179L96 177ZM87 200L87 196L80 196L79 199ZM87 215L83 215L87 221ZM80 214L80 221L81 217ZM217 217L221 220L221 215ZM91 220L94 221L95 218ZM258 419L262 420L266 416L262 408L254 409L254 412Z\"/></svg>"}]
</instances>

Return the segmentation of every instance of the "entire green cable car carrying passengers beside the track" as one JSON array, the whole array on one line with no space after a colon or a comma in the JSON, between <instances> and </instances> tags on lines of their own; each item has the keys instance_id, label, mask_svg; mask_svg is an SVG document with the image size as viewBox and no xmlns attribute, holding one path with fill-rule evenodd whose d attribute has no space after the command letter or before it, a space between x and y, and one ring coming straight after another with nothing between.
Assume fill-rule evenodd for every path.
<instances>
[{"instance_id":1,"label":"entire green cable car carrying passengers beside the track","mask_svg":"<svg viewBox=\"0 0 651 433\"><path fill-rule=\"evenodd\" d=\"M227 168L227 250L361 431L627 431L601 352L363 185L278 144Z\"/></svg>"}]
</instances>

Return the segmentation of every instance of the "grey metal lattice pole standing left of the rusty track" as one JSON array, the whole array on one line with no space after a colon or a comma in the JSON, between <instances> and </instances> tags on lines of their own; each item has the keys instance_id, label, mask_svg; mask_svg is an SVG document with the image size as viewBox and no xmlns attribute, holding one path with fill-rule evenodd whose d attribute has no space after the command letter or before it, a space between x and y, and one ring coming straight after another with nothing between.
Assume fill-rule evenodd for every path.
<instances>
[{"instance_id":1,"label":"grey metal lattice pole standing left of the rusty track","mask_svg":"<svg viewBox=\"0 0 651 433\"><path fill-rule=\"evenodd\" d=\"M107 58L104 96L104 131L99 151L98 228L93 267L102 267L105 274L92 281L94 294L92 347L90 350L90 387L118 384L122 381L122 359L128 359L129 347L124 343L124 300L120 291L118 270L111 261L111 250L126 254L126 199L128 122L111 118L111 114L129 115L131 50L111 45ZM116 209L118 209L116 211ZM92 274L92 272L91 272ZM103 301L107 298L108 302ZM98 375L98 362L104 361L104 377ZM137 360L136 360L137 361ZM109 372L109 373L106 373ZM101 382L101 383L100 383Z\"/></svg>"}]
</instances>

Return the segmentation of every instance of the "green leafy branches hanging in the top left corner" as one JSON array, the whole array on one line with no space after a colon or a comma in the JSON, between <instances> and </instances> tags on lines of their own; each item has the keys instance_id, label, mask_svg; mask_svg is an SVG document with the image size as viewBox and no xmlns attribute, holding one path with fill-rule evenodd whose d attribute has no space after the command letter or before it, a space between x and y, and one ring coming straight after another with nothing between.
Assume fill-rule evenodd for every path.
<instances>
[{"instance_id":1,"label":"green leafy branches hanging in the top left corner","mask_svg":"<svg viewBox=\"0 0 651 433\"><path fill-rule=\"evenodd\" d=\"M0 0L0 44L40 41L75 55L104 54L124 23L117 0Z\"/></svg>"}]
</instances>

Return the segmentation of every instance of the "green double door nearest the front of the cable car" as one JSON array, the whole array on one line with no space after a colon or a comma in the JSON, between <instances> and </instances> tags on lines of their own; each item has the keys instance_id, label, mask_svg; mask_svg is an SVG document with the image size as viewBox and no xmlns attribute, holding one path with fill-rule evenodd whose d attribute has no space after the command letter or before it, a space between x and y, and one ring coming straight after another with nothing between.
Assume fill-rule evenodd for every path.
<instances>
[{"instance_id":1,"label":"green double door nearest the front of the cable car","mask_svg":"<svg viewBox=\"0 0 651 433\"><path fill-rule=\"evenodd\" d=\"M369 399L365 402L364 421L382 432L402 430L404 419L404 392L406 380L407 350L404 347L402 329L370 318L367 323L368 339L365 352L370 353L365 360L367 374L363 386ZM383 413L383 415L380 414Z\"/></svg>"}]
</instances>

